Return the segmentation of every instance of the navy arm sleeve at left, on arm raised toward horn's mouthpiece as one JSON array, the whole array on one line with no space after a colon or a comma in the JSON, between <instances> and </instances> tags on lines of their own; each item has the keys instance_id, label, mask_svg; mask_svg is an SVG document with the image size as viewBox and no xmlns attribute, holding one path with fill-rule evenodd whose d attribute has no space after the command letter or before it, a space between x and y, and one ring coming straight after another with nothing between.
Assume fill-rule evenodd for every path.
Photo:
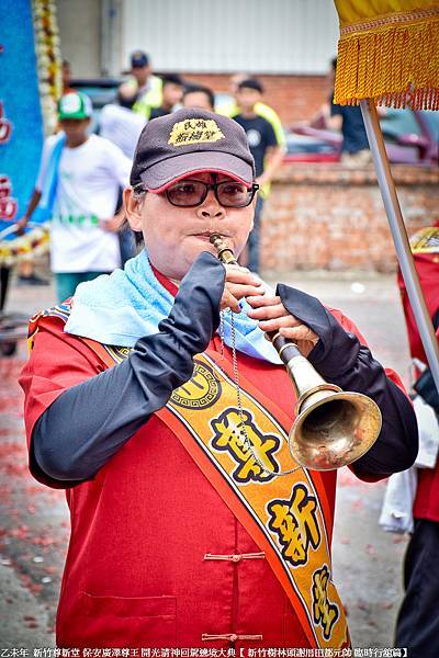
<instances>
[{"instance_id":1,"label":"navy arm sleeve at left, on arm raised toward horn's mouthpiece","mask_svg":"<svg viewBox=\"0 0 439 658\"><path fill-rule=\"evenodd\" d=\"M218 326L224 281L224 266L203 252L159 332L138 340L124 362L65 390L46 409L32 433L34 475L59 487L90 479L166 405L191 377L193 356L207 348Z\"/></svg>"}]
</instances>

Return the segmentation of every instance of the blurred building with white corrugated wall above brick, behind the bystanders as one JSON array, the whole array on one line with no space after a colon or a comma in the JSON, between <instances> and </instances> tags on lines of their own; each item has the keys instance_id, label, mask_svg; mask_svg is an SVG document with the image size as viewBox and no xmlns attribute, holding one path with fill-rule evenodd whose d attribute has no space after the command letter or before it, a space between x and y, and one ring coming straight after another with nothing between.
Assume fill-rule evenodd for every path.
<instances>
[{"instance_id":1,"label":"blurred building with white corrugated wall above brick, behind the bystanders","mask_svg":"<svg viewBox=\"0 0 439 658\"><path fill-rule=\"evenodd\" d=\"M75 78L119 78L142 49L156 72L227 93L257 75L285 125L313 114L336 54L338 18L322 0L57 0L63 57Z\"/></svg>"}]
</instances>

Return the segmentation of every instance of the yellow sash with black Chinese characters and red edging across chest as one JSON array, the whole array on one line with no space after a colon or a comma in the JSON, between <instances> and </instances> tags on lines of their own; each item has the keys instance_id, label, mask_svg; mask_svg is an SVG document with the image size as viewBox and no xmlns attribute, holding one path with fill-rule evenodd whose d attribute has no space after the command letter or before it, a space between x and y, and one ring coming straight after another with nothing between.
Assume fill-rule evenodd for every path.
<instances>
[{"instance_id":1,"label":"yellow sash with black Chinese characters and red edging across chest","mask_svg":"<svg viewBox=\"0 0 439 658\"><path fill-rule=\"evenodd\" d=\"M131 351L82 340L108 366ZM251 451L241 430L232 364L214 351L195 356L192 378L156 413L264 552L311 646L349 647L344 606L331 581L331 510L320 474L300 468L277 477L260 467L280 472L296 465L288 449L292 419L243 375L239 381Z\"/></svg>"}]
</instances>

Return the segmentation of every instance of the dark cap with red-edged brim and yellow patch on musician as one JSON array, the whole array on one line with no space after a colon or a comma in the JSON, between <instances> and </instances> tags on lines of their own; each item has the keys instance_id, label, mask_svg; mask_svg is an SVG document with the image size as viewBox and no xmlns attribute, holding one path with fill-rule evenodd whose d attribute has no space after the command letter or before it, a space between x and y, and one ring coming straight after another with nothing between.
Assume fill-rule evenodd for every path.
<instances>
[{"instance_id":1,"label":"dark cap with red-edged brim and yellow patch on musician","mask_svg":"<svg viewBox=\"0 0 439 658\"><path fill-rule=\"evenodd\" d=\"M190 173L213 171L251 185L255 161L244 128L206 110L182 109L142 131L130 182L161 192Z\"/></svg>"}]
</instances>

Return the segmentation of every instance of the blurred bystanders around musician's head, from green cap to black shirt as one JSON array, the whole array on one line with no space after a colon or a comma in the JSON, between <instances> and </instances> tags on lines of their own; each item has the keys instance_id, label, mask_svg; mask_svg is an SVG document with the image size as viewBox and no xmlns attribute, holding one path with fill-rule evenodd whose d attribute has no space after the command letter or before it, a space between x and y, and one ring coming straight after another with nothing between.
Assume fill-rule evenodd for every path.
<instances>
[{"instance_id":1,"label":"blurred bystanders around musician's head, from green cap to black shirt","mask_svg":"<svg viewBox=\"0 0 439 658\"><path fill-rule=\"evenodd\" d=\"M246 75L233 77L230 103L218 109L211 89L193 82L187 84L177 73L155 76L146 53L135 52L131 56L128 79L120 86L115 101L100 113L98 135L89 134L92 109L83 93L71 89L67 61L63 65L63 82L64 95L58 103L60 132L46 139L34 194L18 223L23 230L38 204L52 204L50 263L59 302L70 297L78 283L111 272L135 256L131 235L119 230L121 193L127 184L136 144L146 123L179 107L217 110L232 116L247 134L260 193L243 262L258 272L262 203L282 161L285 144L279 116L262 103L263 88L259 80ZM31 272L31 263L24 265L21 282L45 283Z\"/></svg>"}]
</instances>

